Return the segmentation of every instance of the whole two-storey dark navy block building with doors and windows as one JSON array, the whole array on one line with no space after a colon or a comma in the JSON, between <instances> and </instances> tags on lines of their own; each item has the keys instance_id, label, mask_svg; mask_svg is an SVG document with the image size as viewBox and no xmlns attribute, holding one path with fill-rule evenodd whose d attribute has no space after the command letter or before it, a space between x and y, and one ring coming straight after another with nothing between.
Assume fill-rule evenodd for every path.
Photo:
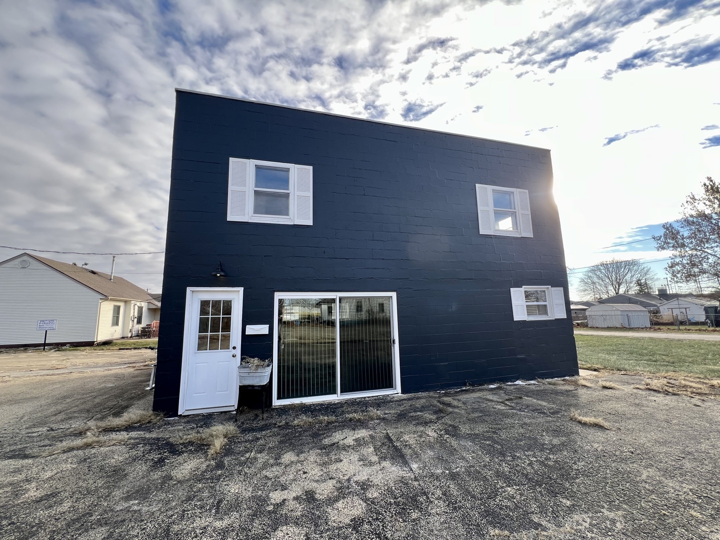
<instances>
[{"instance_id":1,"label":"whole two-storey dark navy block building with doors and windows","mask_svg":"<svg viewBox=\"0 0 720 540\"><path fill-rule=\"evenodd\" d=\"M569 311L549 150L176 92L156 410L577 374Z\"/></svg>"}]
</instances>

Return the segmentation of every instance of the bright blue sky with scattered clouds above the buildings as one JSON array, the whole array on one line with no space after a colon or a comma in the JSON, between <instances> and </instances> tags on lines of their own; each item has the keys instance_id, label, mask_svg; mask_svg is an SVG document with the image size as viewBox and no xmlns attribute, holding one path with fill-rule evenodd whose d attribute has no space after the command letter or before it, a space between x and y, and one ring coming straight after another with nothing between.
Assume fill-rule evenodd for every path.
<instances>
[{"instance_id":1,"label":"bright blue sky with scattered clouds above the buildings","mask_svg":"<svg viewBox=\"0 0 720 540\"><path fill-rule=\"evenodd\" d=\"M175 87L550 148L576 269L667 258L652 242L607 246L657 233L705 176L720 177L717 0L27 0L0 11L5 246L162 251ZM49 256L109 271L109 256ZM162 262L120 256L117 270L159 290Z\"/></svg>"}]
</instances>

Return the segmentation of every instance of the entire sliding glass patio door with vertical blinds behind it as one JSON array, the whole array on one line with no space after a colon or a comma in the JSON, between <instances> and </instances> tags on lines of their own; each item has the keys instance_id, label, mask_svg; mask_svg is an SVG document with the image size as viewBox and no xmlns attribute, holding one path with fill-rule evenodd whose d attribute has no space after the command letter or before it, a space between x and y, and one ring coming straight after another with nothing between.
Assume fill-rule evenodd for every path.
<instances>
[{"instance_id":1,"label":"entire sliding glass patio door with vertical blinds behind it","mask_svg":"<svg viewBox=\"0 0 720 540\"><path fill-rule=\"evenodd\" d=\"M400 392L392 292L276 293L273 403Z\"/></svg>"}]
</instances>

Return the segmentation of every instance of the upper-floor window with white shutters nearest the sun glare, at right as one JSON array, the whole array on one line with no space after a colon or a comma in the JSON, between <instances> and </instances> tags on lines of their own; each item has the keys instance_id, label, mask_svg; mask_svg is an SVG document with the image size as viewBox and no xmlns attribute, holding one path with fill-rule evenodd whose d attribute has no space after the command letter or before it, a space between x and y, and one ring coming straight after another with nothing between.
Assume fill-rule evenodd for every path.
<instances>
[{"instance_id":1,"label":"upper-floor window with white shutters nearest the sun glare, at right","mask_svg":"<svg viewBox=\"0 0 720 540\"><path fill-rule=\"evenodd\" d=\"M533 235L530 197L526 189L475 184L481 235Z\"/></svg>"}]
</instances>

